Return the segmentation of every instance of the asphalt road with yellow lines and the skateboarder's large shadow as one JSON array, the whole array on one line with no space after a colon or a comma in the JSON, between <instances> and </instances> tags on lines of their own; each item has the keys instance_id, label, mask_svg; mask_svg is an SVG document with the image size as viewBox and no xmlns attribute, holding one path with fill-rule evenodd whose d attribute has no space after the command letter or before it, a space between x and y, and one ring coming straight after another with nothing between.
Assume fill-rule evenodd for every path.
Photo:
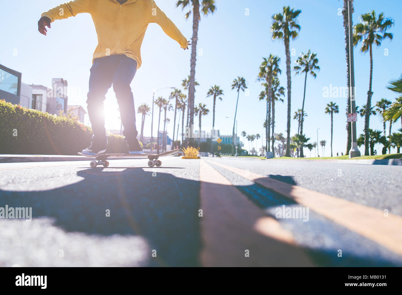
<instances>
[{"instance_id":1,"label":"asphalt road with yellow lines and the skateboarder's large shadow","mask_svg":"<svg viewBox=\"0 0 402 295\"><path fill-rule=\"evenodd\" d=\"M33 215L0 219L0 266L402 266L400 166L161 160L0 163L0 207ZM335 197L333 212L330 204L311 206L308 221L276 218L283 205L301 207L298 199L250 175ZM356 223L388 210L388 240L368 224L340 222L347 208L338 200L359 205Z\"/></svg>"}]
</instances>

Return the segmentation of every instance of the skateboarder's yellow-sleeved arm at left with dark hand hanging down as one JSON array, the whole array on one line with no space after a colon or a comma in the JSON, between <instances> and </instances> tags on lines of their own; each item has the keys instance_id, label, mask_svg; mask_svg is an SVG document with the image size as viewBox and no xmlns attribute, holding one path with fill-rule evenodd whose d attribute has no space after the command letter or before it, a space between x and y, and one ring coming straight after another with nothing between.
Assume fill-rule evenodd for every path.
<instances>
[{"instance_id":1,"label":"skateboarder's yellow-sleeved arm at left with dark hand hanging down","mask_svg":"<svg viewBox=\"0 0 402 295\"><path fill-rule=\"evenodd\" d=\"M50 28L50 23L56 19L67 19L75 17L78 13L89 12L89 0L74 0L60 4L47 12L43 12L38 21L38 31L46 35L46 26Z\"/></svg>"}]
</instances>

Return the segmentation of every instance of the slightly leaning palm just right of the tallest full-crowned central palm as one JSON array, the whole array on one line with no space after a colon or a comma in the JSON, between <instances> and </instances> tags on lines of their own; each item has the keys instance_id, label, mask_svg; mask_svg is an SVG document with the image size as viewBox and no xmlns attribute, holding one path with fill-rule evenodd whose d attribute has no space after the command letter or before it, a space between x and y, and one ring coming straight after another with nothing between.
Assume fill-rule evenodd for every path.
<instances>
[{"instance_id":1,"label":"slightly leaning palm just right of the tallest full-crowned central palm","mask_svg":"<svg viewBox=\"0 0 402 295\"><path fill-rule=\"evenodd\" d=\"M307 52L307 54L304 54L301 52L299 58L295 61L296 66L293 67L293 70L296 71L295 75L301 74L301 73L306 73L306 76L304 78L304 95L303 95L303 104L301 106L301 123L300 123L300 134L303 134L303 113L304 113L304 100L306 99L306 83L307 83L307 74L310 73L316 78L316 70L320 70L320 67L317 66L318 64L318 58L317 54L314 54L310 52L310 50ZM303 149L300 150L300 157L304 158L303 154Z\"/></svg>"}]
</instances>

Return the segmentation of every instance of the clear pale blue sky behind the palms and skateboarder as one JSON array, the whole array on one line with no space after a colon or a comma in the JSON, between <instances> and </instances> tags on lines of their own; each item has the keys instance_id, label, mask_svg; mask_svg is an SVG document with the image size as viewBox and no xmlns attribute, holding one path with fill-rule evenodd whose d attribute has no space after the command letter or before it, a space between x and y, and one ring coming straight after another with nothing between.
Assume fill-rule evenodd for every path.
<instances>
[{"instance_id":1,"label":"clear pale blue sky behind the palms and skateboarder","mask_svg":"<svg viewBox=\"0 0 402 295\"><path fill-rule=\"evenodd\" d=\"M192 19L184 18L185 12L175 7L174 0L156 0L158 6L174 21L182 33L191 39ZM393 41L383 41L379 48L373 50L373 103L382 97L394 101L394 93L385 88L386 84L400 76L402 56L402 37L400 20L402 16L402 2L397 0L375 1L356 0L353 23L357 23L360 15L371 10L377 14L384 12L386 17L392 17L395 26L390 30L394 33ZM60 4L60 0L35 1L2 1L0 18L3 26L1 32L2 46L0 47L0 63L22 72L22 80L27 84L51 85L52 78L68 80L69 87L77 95L69 97L69 104L80 104L86 108L86 93L88 91L89 69L92 53L97 44L96 32L89 14L78 14L66 20L55 21L48 29L47 36L37 31L37 21L42 12ZM334 154L345 152L345 107L344 98L324 98L323 87L330 84L336 87L346 86L346 62L343 17L338 16L338 8L342 8L343 1L337 0L216 0L217 10L213 15L201 17L199 25L199 41L197 50L202 55L197 56L196 79L201 84L197 87L196 103L205 103L211 113L202 118L203 129L212 126L212 99L206 98L211 85L219 85L225 93L224 100L218 101L216 106L215 129L221 134L231 134L233 121L225 117L233 117L237 93L230 89L231 82L237 76L244 76L250 89L249 96L240 94L238 105L238 133L246 131L248 134L263 134L265 120L265 102L258 101L258 94L262 90L256 82L258 67L262 57L270 53L281 57L280 79L286 87L285 48L281 41L271 40L269 31L272 14L281 11L284 5L290 5L302 10L299 17L301 31L290 47L294 48L295 56L291 57L291 66L300 52L309 49L318 54L319 66L317 78L311 76L307 80L305 110L308 117L305 120L304 132L311 141L316 141L317 128L319 140L327 141L325 155L330 155L330 116L324 113L326 104L334 101L339 105L340 113L334 116ZM249 14L245 15L248 8ZM384 49L388 48L388 56ZM16 49L16 56L13 55ZM143 65L131 84L135 97L135 105L141 103L152 104L152 89L162 87L180 88L181 80L190 72L190 51L183 51L180 46L164 35L162 29L151 24L148 27L142 45ZM369 55L361 54L355 49L355 83L357 89L357 105L366 103L369 87ZM294 111L301 108L303 99L304 77L294 76L292 73L292 116ZM160 91L157 96L168 97L169 89ZM285 134L287 121L287 107L285 103L276 105L275 132ZM110 89L105 102L107 109L107 128L118 129L120 123L117 102L113 90ZM155 112L157 115L157 112ZM138 117L137 117L138 118ZM140 117L139 117L140 118ZM168 114L173 121L173 113ZM137 120L140 122L140 120ZM195 122L198 122L197 118ZM151 116L146 118L144 132L150 134ZM157 118L154 118L154 134L156 135ZM363 118L358 118L358 134L363 132ZM173 124L170 123L168 132L172 134ZM393 131L400 128L397 122ZM140 126L138 126L138 129ZM383 130L379 116L370 118L370 128ZM291 134L297 132L297 122L291 122ZM388 133L388 123L387 123ZM387 134L388 135L388 134ZM242 138L241 138L242 140ZM265 141L265 138L263 139ZM262 140L258 142L258 148ZM246 140L246 147L248 142ZM382 146L376 146L381 153ZM364 146L361 147L364 153ZM313 151L314 152L314 151ZM306 155L309 155L308 151ZM321 154L321 153L320 153Z\"/></svg>"}]
</instances>

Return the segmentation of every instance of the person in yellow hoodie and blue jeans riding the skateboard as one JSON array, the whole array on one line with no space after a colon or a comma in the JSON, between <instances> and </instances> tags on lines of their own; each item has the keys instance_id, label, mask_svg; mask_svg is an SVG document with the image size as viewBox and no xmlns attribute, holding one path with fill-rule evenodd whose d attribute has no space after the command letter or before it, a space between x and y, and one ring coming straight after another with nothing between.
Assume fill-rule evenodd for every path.
<instances>
[{"instance_id":1,"label":"person in yellow hoodie and blue jeans riding the skateboard","mask_svg":"<svg viewBox=\"0 0 402 295\"><path fill-rule=\"evenodd\" d=\"M98 46L93 54L86 100L94 134L91 145L82 153L96 155L106 151L103 101L113 84L129 153L142 154L142 147L137 140L134 98L130 83L141 66L140 49L148 24L160 25L166 35L177 41L184 50L191 44L154 0L70 1L42 13L38 21L38 30L46 35L46 26L50 28L50 24L56 19L75 17L84 12L91 14L94 21Z\"/></svg>"}]
</instances>

